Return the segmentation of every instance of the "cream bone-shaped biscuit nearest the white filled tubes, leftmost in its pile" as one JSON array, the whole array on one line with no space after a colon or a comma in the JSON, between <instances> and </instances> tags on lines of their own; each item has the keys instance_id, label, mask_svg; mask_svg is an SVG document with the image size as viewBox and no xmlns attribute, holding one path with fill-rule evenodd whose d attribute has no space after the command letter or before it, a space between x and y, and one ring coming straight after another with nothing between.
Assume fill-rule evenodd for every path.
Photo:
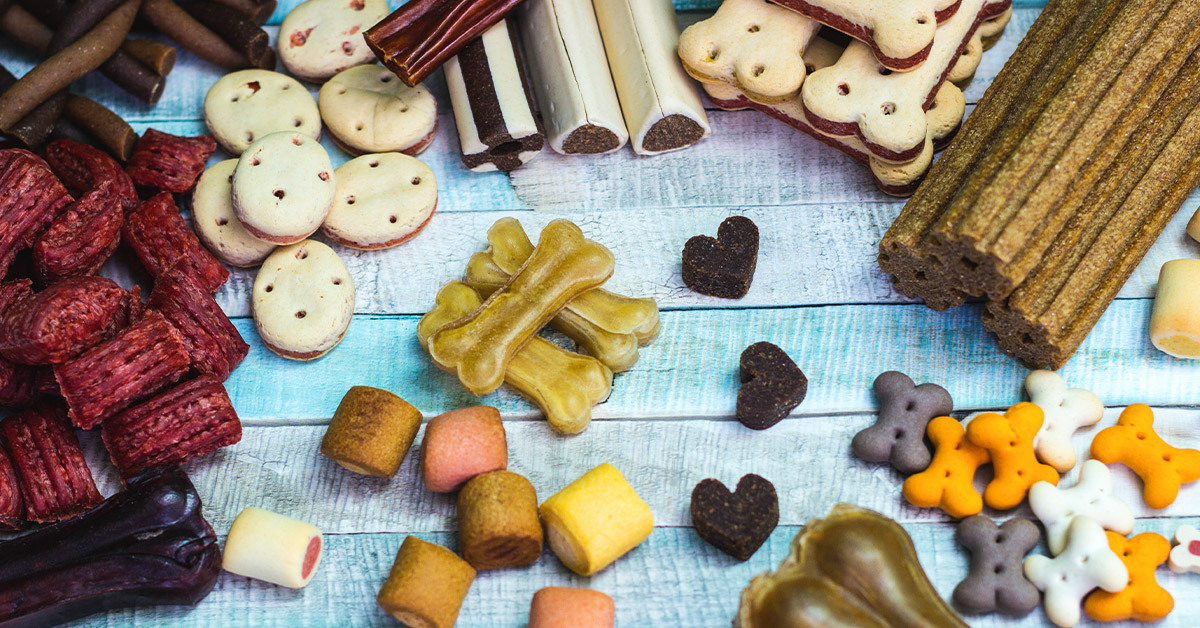
<instances>
[{"instance_id":1,"label":"cream bone-shaped biscuit nearest the white filled tubes, leftmost in its pile","mask_svg":"<svg viewBox=\"0 0 1200 628\"><path fill-rule=\"evenodd\" d=\"M762 0L725 0L679 36L684 70L702 83L737 85L752 101L791 100L806 76L804 50L821 23Z\"/></svg>"}]
</instances>

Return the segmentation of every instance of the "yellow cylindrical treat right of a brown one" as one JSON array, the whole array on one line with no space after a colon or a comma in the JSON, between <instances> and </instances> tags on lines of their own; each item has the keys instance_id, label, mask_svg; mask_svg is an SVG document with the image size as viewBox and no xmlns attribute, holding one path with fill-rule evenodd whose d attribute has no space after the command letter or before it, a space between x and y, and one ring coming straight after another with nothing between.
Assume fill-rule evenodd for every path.
<instances>
[{"instance_id":1,"label":"yellow cylindrical treat right of a brown one","mask_svg":"<svg viewBox=\"0 0 1200 628\"><path fill-rule=\"evenodd\" d=\"M546 500L539 513L550 549L580 575L608 567L654 530L650 507L607 462Z\"/></svg>"}]
</instances>

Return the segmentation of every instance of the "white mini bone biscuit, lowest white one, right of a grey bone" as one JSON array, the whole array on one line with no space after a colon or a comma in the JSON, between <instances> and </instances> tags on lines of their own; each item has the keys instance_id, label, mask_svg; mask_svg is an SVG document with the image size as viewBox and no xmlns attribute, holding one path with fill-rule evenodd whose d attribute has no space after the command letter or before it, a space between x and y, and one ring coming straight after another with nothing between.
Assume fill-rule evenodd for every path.
<instances>
[{"instance_id":1,"label":"white mini bone biscuit, lowest white one, right of a grey bone","mask_svg":"<svg viewBox=\"0 0 1200 628\"><path fill-rule=\"evenodd\" d=\"M1099 587L1110 593L1129 584L1129 570L1109 548L1099 524L1087 516L1070 522L1067 549L1050 558L1043 555L1025 560L1025 578L1043 592L1046 616L1057 626L1079 623L1080 603Z\"/></svg>"}]
</instances>

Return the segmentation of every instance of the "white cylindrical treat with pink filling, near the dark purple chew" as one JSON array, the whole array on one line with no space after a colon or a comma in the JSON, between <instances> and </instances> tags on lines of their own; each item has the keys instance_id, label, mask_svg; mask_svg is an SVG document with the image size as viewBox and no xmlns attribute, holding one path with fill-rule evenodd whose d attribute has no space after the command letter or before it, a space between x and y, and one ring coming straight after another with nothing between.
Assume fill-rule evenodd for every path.
<instances>
[{"instance_id":1,"label":"white cylindrical treat with pink filling, near the dark purple chew","mask_svg":"<svg viewBox=\"0 0 1200 628\"><path fill-rule=\"evenodd\" d=\"M247 508L233 520L221 568L272 585L304 588L317 575L323 550L317 526L262 508Z\"/></svg>"}]
</instances>

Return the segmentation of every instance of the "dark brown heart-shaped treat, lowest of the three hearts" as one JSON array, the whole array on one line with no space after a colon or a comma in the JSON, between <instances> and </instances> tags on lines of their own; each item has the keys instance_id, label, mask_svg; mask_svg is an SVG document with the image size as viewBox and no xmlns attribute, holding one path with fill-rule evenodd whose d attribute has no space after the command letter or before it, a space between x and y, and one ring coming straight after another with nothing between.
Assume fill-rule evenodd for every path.
<instances>
[{"instance_id":1,"label":"dark brown heart-shaped treat, lowest of the three hearts","mask_svg":"<svg viewBox=\"0 0 1200 628\"><path fill-rule=\"evenodd\" d=\"M749 561L779 525L775 486L754 473L733 492L721 480L702 480L691 490L691 524L709 545Z\"/></svg>"}]
</instances>

